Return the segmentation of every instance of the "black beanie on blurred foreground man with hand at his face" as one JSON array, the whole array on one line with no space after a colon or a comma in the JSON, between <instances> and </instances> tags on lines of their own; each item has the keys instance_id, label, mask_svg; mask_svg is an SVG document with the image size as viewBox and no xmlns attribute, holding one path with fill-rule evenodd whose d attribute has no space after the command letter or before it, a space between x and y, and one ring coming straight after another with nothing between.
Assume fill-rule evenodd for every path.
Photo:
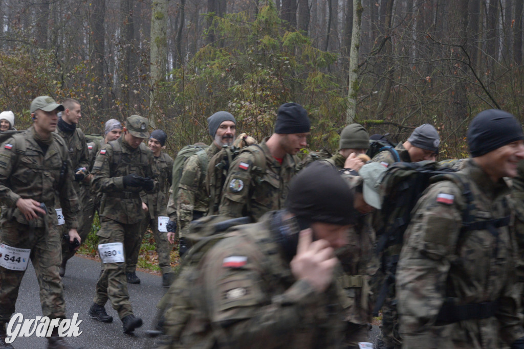
<instances>
[{"instance_id":1,"label":"black beanie on blurred foreground man with hand at his face","mask_svg":"<svg viewBox=\"0 0 524 349\"><path fill-rule=\"evenodd\" d=\"M353 224L356 212L353 194L331 166L314 162L293 177L289 184L287 209L311 222Z\"/></svg>"}]
</instances>

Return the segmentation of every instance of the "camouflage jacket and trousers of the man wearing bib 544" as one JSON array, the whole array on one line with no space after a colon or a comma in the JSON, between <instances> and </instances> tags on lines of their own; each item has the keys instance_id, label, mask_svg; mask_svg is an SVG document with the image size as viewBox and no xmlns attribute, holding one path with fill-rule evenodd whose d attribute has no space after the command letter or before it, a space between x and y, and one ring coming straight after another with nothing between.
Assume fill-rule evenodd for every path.
<instances>
[{"instance_id":1,"label":"camouflage jacket and trousers of the man wearing bib 544","mask_svg":"<svg viewBox=\"0 0 524 349\"><path fill-rule=\"evenodd\" d=\"M30 258L40 284L43 315L63 318L63 286L58 274L62 256L54 207L60 202L65 226L77 228L79 204L72 186L69 154L65 142L57 134L52 135L53 141L45 154L35 141L33 127L17 137L20 137L20 142L25 142L25 151L17 148L20 143L14 138L8 139L0 149L0 200L4 205L0 242L31 249ZM64 162L67 166L61 178ZM31 220L29 224L16 208L19 198L44 202L47 215ZM0 267L0 322L8 321L13 314L23 276L24 272Z\"/></svg>"}]
</instances>

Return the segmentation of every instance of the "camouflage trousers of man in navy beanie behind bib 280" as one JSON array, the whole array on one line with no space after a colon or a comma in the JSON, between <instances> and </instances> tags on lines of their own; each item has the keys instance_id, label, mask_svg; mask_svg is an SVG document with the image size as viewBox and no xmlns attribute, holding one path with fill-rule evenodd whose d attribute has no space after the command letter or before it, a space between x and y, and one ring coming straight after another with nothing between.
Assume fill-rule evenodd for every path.
<instances>
[{"instance_id":1,"label":"camouflage trousers of man in navy beanie behind bib 280","mask_svg":"<svg viewBox=\"0 0 524 349\"><path fill-rule=\"evenodd\" d=\"M163 274L171 273L171 249L172 245L167 241L167 232L158 231L158 216L154 219L146 213L146 218L141 222L140 231L142 232L141 238L144 239L144 235L147 228L151 227L153 237L155 238L155 245L158 255L158 266ZM136 263L138 262L138 254L140 249L132 251L132 253L126 253L126 273L134 273L136 271Z\"/></svg>"}]
</instances>

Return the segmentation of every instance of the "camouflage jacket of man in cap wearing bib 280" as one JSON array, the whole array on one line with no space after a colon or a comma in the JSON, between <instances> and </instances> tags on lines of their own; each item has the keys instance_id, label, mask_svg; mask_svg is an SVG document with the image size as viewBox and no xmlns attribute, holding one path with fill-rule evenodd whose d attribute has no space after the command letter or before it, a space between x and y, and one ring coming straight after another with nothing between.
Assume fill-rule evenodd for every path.
<instances>
[{"instance_id":1,"label":"camouflage jacket of man in cap wearing bib 280","mask_svg":"<svg viewBox=\"0 0 524 349\"><path fill-rule=\"evenodd\" d=\"M113 144L112 144L113 143ZM118 143L118 144L115 144ZM121 148L119 155L115 147ZM118 159L119 158L119 159ZM100 216L123 224L133 224L144 219L141 187L125 187L123 176L135 173L141 177L157 178L158 171L153 161L153 153L144 143L137 149L130 147L124 137L105 144L96 155L91 182L97 193L102 194ZM158 192L158 182L151 192Z\"/></svg>"}]
</instances>

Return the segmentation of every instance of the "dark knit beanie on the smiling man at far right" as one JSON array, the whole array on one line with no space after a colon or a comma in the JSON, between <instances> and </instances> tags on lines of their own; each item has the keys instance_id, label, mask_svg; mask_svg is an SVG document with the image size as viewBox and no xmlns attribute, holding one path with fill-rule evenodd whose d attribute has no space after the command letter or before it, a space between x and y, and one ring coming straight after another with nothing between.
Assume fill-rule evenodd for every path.
<instances>
[{"instance_id":1,"label":"dark knit beanie on the smiling man at far right","mask_svg":"<svg viewBox=\"0 0 524 349\"><path fill-rule=\"evenodd\" d=\"M466 133L472 157L489 153L511 142L524 140L517 119L507 111L488 109L471 120Z\"/></svg>"}]
</instances>

